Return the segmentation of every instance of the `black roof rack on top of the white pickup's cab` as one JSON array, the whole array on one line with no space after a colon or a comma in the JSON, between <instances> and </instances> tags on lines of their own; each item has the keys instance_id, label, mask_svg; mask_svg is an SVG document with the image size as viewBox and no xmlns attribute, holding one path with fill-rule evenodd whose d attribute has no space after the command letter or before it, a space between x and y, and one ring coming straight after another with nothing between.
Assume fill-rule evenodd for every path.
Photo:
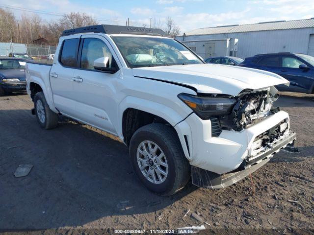
<instances>
[{"instance_id":1,"label":"black roof rack on top of the white pickup's cab","mask_svg":"<svg viewBox=\"0 0 314 235\"><path fill-rule=\"evenodd\" d=\"M67 36L77 33L105 33L105 34L145 34L154 36L166 36L168 35L158 28L144 28L111 24L91 25L81 28L73 28L64 30L61 36Z\"/></svg>"}]
</instances>

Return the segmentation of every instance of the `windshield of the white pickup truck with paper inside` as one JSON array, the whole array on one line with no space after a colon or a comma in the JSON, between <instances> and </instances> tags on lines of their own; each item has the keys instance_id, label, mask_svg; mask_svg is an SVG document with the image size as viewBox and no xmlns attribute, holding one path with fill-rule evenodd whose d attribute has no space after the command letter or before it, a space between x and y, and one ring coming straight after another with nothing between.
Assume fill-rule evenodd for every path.
<instances>
[{"instance_id":1,"label":"windshield of the white pickup truck with paper inside","mask_svg":"<svg viewBox=\"0 0 314 235\"><path fill-rule=\"evenodd\" d=\"M113 36L112 39L130 68L203 64L190 50L170 38Z\"/></svg>"}]
</instances>

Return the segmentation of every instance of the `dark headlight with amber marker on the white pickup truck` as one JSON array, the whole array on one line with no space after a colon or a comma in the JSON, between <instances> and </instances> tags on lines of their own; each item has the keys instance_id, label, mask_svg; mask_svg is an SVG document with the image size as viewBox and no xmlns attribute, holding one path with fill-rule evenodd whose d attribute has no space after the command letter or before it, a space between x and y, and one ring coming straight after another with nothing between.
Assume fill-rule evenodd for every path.
<instances>
[{"instance_id":1,"label":"dark headlight with amber marker on the white pickup truck","mask_svg":"<svg viewBox=\"0 0 314 235\"><path fill-rule=\"evenodd\" d=\"M184 93L179 94L178 97L202 119L229 115L236 102L234 98L206 97Z\"/></svg>"}]
</instances>

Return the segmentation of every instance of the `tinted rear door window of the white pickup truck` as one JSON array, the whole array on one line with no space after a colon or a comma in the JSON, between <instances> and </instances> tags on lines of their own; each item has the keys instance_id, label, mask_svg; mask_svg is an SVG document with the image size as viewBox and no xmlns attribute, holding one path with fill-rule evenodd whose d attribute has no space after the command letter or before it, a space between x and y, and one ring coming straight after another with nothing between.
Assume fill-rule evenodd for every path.
<instances>
[{"instance_id":1,"label":"tinted rear door window of the white pickup truck","mask_svg":"<svg viewBox=\"0 0 314 235\"><path fill-rule=\"evenodd\" d=\"M60 63L67 67L77 67L78 38L66 39L63 42Z\"/></svg>"}]
</instances>

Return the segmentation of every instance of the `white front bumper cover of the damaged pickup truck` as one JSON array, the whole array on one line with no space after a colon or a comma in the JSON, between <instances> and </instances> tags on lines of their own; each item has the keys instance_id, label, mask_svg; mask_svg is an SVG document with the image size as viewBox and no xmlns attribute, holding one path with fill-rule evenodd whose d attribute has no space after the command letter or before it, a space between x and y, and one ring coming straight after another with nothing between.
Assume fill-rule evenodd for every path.
<instances>
[{"instance_id":1,"label":"white front bumper cover of the damaged pickup truck","mask_svg":"<svg viewBox=\"0 0 314 235\"><path fill-rule=\"evenodd\" d=\"M289 123L289 116L279 111L242 131L222 130L219 137L211 137L210 120L191 114L175 128L192 166L224 174L237 169L248 156L255 157L254 140L282 121Z\"/></svg>"}]
</instances>

